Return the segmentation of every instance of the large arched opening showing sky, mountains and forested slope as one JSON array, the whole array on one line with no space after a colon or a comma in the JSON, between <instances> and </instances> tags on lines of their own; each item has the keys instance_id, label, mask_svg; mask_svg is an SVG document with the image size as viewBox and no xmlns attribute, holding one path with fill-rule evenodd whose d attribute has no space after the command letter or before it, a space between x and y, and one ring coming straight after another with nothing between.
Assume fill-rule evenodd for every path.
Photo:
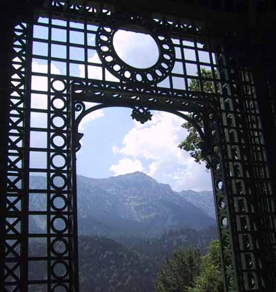
<instances>
[{"instance_id":1,"label":"large arched opening showing sky, mountains and forested slope","mask_svg":"<svg viewBox=\"0 0 276 292\"><path fill-rule=\"evenodd\" d=\"M217 236L210 174L177 147L183 118L99 107L78 121L80 289L154 291L166 256Z\"/></svg>"}]
</instances>

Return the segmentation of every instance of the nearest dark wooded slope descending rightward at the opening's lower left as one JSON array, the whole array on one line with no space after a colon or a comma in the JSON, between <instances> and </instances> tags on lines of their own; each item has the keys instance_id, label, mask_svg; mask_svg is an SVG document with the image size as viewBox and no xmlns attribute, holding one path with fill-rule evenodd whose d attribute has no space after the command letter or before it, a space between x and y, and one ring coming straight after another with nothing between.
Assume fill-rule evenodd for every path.
<instances>
[{"instance_id":1,"label":"nearest dark wooded slope descending rightward at the opening's lower left","mask_svg":"<svg viewBox=\"0 0 276 292\"><path fill-rule=\"evenodd\" d=\"M79 238L80 291L153 292L160 266L110 238Z\"/></svg>"}]
</instances>

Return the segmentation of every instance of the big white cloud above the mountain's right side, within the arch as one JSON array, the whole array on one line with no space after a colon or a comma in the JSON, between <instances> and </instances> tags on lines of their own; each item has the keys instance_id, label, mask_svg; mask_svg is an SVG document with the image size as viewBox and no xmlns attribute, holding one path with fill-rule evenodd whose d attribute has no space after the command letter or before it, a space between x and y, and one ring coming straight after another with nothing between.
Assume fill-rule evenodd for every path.
<instances>
[{"instance_id":1,"label":"big white cloud above the mountain's right side, within the arch","mask_svg":"<svg viewBox=\"0 0 276 292\"><path fill-rule=\"evenodd\" d=\"M113 152L123 158L144 160L148 175L160 183L169 183L175 190L210 189L210 174L205 165L195 163L188 152L177 147L187 135L182 123L175 115L156 112L152 121L144 125L135 123L124 137L123 147L115 147Z\"/></svg>"}]
</instances>

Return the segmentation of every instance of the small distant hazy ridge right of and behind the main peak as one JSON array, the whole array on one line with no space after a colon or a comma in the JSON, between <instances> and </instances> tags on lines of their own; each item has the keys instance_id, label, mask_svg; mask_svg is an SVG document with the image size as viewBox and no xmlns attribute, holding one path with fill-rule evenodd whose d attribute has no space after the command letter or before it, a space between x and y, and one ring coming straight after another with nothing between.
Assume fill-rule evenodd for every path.
<instances>
[{"instance_id":1,"label":"small distant hazy ridge right of and behind the main peak","mask_svg":"<svg viewBox=\"0 0 276 292\"><path fill-rule=\"evenodd\" d=\"M204 210L209 216L215 219L215 202L213 191L179 191L177 194L191 202L193 205Z\"/></svg>"}]
</instances>

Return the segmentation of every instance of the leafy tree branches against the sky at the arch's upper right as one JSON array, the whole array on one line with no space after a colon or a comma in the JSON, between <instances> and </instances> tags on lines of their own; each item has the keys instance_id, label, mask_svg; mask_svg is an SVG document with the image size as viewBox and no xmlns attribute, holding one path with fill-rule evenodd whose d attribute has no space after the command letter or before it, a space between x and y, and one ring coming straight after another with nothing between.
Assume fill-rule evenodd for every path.
<instances>
[{"instance_id":1,"label":"leafy tree branches against the sky at the arch's upper right","mask_svg":"<svg viewBox=\"0 0 276 292\"><path fill-rule=\"evenodd\" d=\"M203 68L201 70L201 77L205 79L202 81L202 89L200 90L199 81L193 79L190 82L189 90L197 91L197 92L203 91L203 92L208 92L208 93L215 92L215 85L213 81L210 80L210 79L213 79L212 72L210 70L206 70L205 68ZM192 114L189 114L188 116L192 118ZM189 123L188 121L182 124L181 127L184 127L184 129L188 131L188 136L186 137L185 140L183 140L178 145L178 147L189 152L190 156L192 156L195 159L196 163L200 164L201 162L206 162L206 158L204 158L204 155L202 153L204 142L199 136L197 129L195 129L193 124ZM208 163L206 164L206 167L210 168Z\"/></svg>"}]
</instances>

